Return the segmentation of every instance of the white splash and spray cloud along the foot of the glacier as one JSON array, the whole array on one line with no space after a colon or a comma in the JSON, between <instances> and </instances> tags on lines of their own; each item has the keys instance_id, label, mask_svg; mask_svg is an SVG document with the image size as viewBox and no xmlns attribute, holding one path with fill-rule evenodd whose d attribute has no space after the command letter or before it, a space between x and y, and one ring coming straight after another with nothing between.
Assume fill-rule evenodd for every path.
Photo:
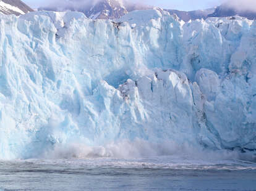
<instances>
[{"instance_id":1,"label":"white splash and spray cloud along the foot of the glacier","mask_svg":"<svg viewBox=\"0 0 256 191\"><path fill-rule=\"evenodd\" d=\"M160 143L148 142L143 139L134 141L122 140L112 142L105 146L88 146L85 144L56 144L53 150L46 151L40 158L48 159L90 159L90 158L109 158L108 160L137 161L139 158L157 159L163 165L166 161L171 161L169 165L215 165L216 163L241 161L254 161L247 153L228 150L207 150L200 147L193 147L189 144L177 144L176 142L166 141ZM165 161L165 162L164 162ZM167 163L166 163L167 164ZM167 166L169 166L167 165Z\"/></svg>"}]
</instances>

